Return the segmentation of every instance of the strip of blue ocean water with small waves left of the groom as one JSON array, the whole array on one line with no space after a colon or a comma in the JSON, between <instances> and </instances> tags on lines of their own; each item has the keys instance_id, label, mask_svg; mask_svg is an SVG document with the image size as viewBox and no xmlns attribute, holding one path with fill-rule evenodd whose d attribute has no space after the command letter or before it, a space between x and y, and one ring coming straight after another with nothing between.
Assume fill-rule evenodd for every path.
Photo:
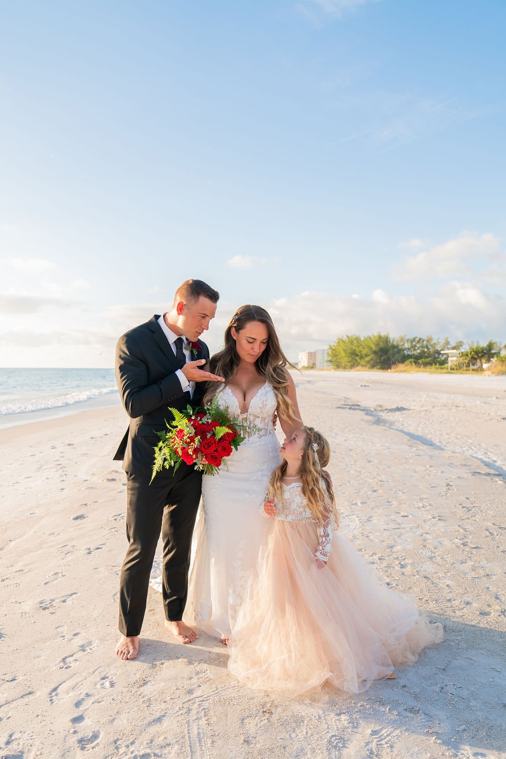
<instances>
[{"instance_id":1,"label":"strip of blue ocean water with small waves left of the groom","mask_svg":"<svg viewBox=\"0 0 506 759\"><path fill-rule=\"evenodd\" d=\"M0 368L0 427L118 402L113 369Z\"/></svg>"}]
</instances>

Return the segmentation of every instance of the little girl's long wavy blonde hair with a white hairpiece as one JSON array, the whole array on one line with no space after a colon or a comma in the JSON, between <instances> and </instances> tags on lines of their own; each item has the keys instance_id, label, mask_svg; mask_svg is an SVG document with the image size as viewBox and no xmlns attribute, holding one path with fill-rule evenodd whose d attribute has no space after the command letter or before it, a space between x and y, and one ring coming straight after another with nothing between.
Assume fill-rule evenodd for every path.
<instances>
[{"instance_id":1,"label":"little girl's long wavy blonde hair with a white hairpiece","mask_svg":"<svg viewBox=\"0 0 506 759\"><path fill-rule=\"evenodd\" d=\"M323 471L323 468L330 461L330 445L322 433L319 433L314 427L300 427L300 429L305 434L303 455L300 461L302 495L318 524L323 524L330 516L337 527L339 514L335 505L332 480L329 474ZM287 461L282 461L278 468L272 472L267 493L268 499L284 500L283 477L287 465Z\"/></svg>"}]
</instances>

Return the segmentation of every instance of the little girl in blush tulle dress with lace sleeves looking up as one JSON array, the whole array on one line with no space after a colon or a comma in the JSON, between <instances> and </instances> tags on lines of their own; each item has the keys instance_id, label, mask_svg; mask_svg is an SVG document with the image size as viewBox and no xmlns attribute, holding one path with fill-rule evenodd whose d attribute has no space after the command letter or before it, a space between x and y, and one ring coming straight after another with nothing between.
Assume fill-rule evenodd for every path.
<instances>
[{"instance_id":1,"label":"little girl in blush tulle dress with lace sleeves looking up","mask_svg":"<svg viewBox=\"0 0 506 759\"><path fill-rule=\"evenodd\" d=\"M327 440L300 427L281 446L262 512L272 519L229 641L249 685L298 695L328 682L358 693L442 640L410 596L391 591L337 532Z\"/></svg>"}]
</instances>

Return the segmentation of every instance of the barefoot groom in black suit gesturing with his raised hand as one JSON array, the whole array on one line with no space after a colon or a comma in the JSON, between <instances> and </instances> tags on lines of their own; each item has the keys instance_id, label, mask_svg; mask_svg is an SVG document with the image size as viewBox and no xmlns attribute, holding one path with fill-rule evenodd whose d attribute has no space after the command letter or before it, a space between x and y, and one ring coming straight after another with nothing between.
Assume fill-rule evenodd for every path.
<instances>
[{"instance_id":1,"label":"barefoot groom in black suit gesturing with his raised hand","mask_svg":"<svg viewBox=\"0 0 506 759\"><path fill-rule=\"evenodd\" d=\"M201 405L206 382L223 378L205 370L209 329L219 294L200 279L187 279L174 295L171 310L130 329L116 346L116 381L130 417L115 459L127 473L128 550L121 568L116 655L135 659L146 611L149 573L162 532L162 599L165 625L182 643L195 632L181 621L187 599L190 546L200 502L202 473L181 462L178 471L162 470L151 485L156 432L166 430L168 406Z\"/></svg>"}]
</instances>

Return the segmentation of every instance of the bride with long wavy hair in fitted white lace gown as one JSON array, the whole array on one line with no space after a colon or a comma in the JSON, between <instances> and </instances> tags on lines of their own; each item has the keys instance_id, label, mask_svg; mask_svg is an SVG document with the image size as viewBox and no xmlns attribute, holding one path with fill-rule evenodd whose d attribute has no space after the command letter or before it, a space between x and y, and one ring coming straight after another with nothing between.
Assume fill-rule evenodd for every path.
<instances>
[{"instance_id":1,"label":"bride with long wavy hair in fitted white lace gown","mask_svg":"<svg viewBox=\"0 0 506 759\"><path fill-rule=\"evenodd\" d=\"M291 364L281 350L269 313L241 306L225 330L225 347L212 356L210 370L225 383L209 389L231 416L252 432L214 477L203 477L184 622L227 643L247 582L256 567L266 519L259 513L269 477L281 461L273 415L285 435L300 427Z\"/></svg>"}]
</instances>

